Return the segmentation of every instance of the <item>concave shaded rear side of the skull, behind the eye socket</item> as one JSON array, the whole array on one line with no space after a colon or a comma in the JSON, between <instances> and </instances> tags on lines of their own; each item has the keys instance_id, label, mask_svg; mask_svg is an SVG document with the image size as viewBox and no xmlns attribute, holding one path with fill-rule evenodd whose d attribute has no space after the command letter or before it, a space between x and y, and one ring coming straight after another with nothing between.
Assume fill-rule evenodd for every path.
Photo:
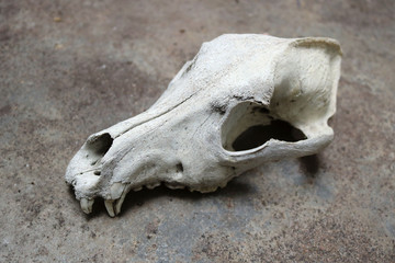
<instances>
[{"instance_id":1,"label":"concave shaded rear side of the skull, behind the eye socket","mask_svg":"<svg viewBox=\"0 0 395 263\"><path fill-rule=\"evenodd\" d=\"M293 42L276 59L271 111L314 133L335 113L340 48L326 38Z\"/></svg>"}]
</instances>

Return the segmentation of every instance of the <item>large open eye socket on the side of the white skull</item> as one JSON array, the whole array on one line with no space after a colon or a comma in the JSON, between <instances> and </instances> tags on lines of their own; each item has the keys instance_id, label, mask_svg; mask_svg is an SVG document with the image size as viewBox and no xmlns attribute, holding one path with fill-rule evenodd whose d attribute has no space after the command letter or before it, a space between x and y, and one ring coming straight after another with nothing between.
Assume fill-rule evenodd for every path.
<instances>
[{"instance_id":1,"label":"large open eye socket on the side of the white skull","mask_svg":"<svg viewBox=\"0 0 395 263\"><path fill-rule=\"evenodd\" d=\"M222 127L222 142L228 151L257 148L270 139L298 141L306 139L302 130L275 119L269 108L253 102L236 105Z\"/></svg>"}]
</instances>

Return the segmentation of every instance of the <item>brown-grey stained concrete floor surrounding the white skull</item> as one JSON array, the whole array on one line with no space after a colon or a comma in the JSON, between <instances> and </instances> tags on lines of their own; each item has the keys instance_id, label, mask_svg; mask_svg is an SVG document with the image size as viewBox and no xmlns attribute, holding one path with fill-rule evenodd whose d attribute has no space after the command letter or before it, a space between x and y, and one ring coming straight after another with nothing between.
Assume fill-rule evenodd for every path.
<instances>
[{"instance_id":1,"label":"brown-grey stained concrete floor surrounding the white skull","mask_svg":"<svg viewBox=\"0 0 395 263\"><path fill-rule=\"evenodd\" d=\"M395 1L0 1L0 262L395 262ZM86 138L149 107L223 33L343 49L335 141L214 194L131 193L86 216Z\"/></svg>"}]
</instances>

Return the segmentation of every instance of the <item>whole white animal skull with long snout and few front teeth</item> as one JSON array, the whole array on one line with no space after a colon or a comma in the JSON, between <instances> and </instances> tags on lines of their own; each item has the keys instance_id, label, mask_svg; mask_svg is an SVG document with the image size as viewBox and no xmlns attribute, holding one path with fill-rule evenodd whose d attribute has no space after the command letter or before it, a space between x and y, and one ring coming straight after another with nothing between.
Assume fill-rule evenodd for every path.
<instances>
[{"instance_id":1,"label":"whole white animal skull with long snout and few front teeth","mask_svg":"<svg viewBox=\"0 0 395 263\"><path fill-rule=\"evenodd\" d=\"M66 182L84 213L101 196L113 217L131 190L206 193L263 162L316 153L334 138L340 57L329 38L204 43L149 110L88 138Z\"/></svg>"}]
</instances>

